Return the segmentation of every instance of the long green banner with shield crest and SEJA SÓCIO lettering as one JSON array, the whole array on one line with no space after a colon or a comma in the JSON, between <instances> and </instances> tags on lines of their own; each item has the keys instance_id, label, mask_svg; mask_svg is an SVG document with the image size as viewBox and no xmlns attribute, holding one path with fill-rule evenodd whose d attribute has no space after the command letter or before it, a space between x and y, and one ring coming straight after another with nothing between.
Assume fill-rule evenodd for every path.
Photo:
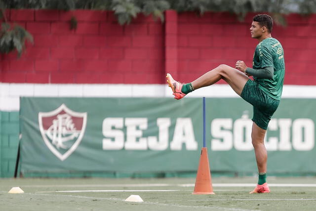
<instances>
[{"instance_id":1,"label":"long green banner with shield crest and SEJA S\u00d3CIO lettering","mask_svg":"<svg viewBox=\"0 0 316 211\"><path fill-rule=\"evenodd\" d=\"M265 138L268 172L316 173L315 107L281 100ZM197 170L202 98L22 97L20 108L22 172ZM257 171L251 118L241 98L206 99L212 171Z\"/></svg>"}]
</instances>

